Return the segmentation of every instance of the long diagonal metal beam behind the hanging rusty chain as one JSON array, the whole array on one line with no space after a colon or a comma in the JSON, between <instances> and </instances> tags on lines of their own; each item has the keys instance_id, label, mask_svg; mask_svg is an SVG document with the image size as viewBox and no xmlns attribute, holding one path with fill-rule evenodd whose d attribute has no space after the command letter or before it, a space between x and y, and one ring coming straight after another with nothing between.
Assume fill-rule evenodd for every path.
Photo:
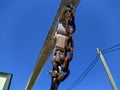
<instances>
[{"instance_id":1,"label":"long diagonal metal beam behind the hanging rusty chain","mask_svg":"<svg viewBox=\"0 0 120 90\"><path fill-rule=\"evenodd\" d=\"M52 39L52 35L53 35L53 32L54 32L54 28L55 28L55 25L57 23L57 20L59 18L59 15L62 11L62 8L68 4L74 4L74 6L77 8L78 4L79 4L80 0L61 0L61 3L59 5L59 8L57 10L57 13L56 13L56 16L53 20L53 23L50 27L50 30L49 30L49 33L47 35L47 38L44 42L44 45L42 47L42 50L39 54L39 57L37 59L37 62L35 64L35 67L32 71L32 74L28 80L28 83L27 83L27 86L26 86L26 90L32 90L32 87L34 86L37 78L39 77L45 63L47 62L49 56L50 56L50 53L52 52L52 49L53 49L53 39Z\"/></svg>"}]
</instances>

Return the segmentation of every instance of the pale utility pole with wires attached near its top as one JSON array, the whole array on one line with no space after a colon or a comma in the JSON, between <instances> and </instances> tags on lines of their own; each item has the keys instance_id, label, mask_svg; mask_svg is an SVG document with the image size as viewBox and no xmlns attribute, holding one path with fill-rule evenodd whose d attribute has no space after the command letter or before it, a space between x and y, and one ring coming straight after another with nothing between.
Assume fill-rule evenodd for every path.
<instances>
[{"instance_id":1,"label":"pale utility pole with wires attached near its top","mask_svg":"<svg viewBox=\"0 0 120 90\"><path fill-rule=\"evenodd\" d=\"M116 86L116 84L115 84L115 82L114 82L114 79L113 79L113 77L112 77L112 75L111 75L111 73L110 73L109 67L107 66L107 63L106 63L106 61L105 61L105 59L104 59L104 57L103 57L103 55L102 55L102 52L101 52L101 50L100 50L99 48L97 48L97 52L98 52L98 54L99 54L99 56L100 56L100 59L101 59L101 61L102 61L102 64L103 64L103 66L104 66L104 69L105 69L105 71L106 71L106 73L107 73L107 75L108 75L108 78L109 78L109 81L110 81L110 83L111 83L111 86L112 86L113 90L118 90L118 89L117 89L117 86Z\"/></svg>"}]
</instances>

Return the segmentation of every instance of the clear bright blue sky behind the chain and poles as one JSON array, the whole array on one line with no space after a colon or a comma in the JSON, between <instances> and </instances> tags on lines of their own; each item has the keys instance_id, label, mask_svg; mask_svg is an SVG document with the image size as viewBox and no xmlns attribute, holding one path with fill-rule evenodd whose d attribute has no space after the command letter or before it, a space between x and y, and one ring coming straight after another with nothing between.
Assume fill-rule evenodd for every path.
<instances>
[{"instance_id":1,"label":"clear bright blue sky behind the chain and poles","mask_svg":"<svg viewBox=\"0 0 120 90\"><path fill-rule=\"evenodd\" d=\"M60 0L0 0L0 72L13 74L10 90L25 90ZM97 56L96 48L120 43L120 0L81 0L71 74L61 83L66 90ZM120 51L105 54L120 89ZM33 90L49 90L51 57ZM73 90L112 90L100 60Z\"/></svg>"}]
</instances>

